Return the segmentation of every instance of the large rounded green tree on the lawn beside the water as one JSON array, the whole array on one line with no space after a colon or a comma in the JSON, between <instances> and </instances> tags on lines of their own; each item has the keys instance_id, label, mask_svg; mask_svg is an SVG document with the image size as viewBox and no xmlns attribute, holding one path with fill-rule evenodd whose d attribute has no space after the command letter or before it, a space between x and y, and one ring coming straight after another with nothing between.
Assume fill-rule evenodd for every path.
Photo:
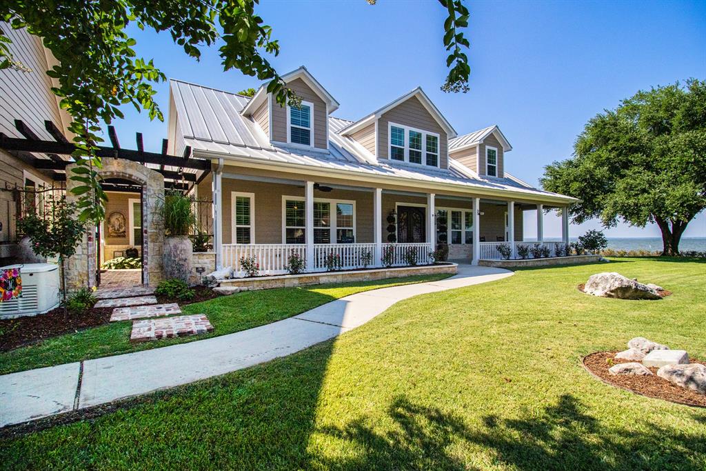
<instances>
[{"instance_id":1,"label":"large rounded green tree on the lawn beside the water","mask_svg":"<svg viewBox=\"0 0 706 471\"><path fill-rule=\"evenodd\" d=\"M547 165L541 181L581 199L569 209L573 222L654 222L662 255L678 255L684 229L706 208L706 82L639 91L597 114L573 157Z\"/></svg>"}]
</instances>

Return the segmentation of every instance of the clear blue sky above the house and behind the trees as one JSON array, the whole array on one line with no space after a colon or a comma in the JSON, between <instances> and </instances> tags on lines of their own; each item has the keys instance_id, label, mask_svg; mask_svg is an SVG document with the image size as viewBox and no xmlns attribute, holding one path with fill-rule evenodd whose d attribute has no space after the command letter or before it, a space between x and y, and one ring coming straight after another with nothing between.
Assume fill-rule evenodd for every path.
<instances>
[{"instance_id":1,"label":"clear blue sky above the house and behind the trees","mask_svg":"<svg viewBox=\"0 0 706 471\"><path fill-rule=\"evenodd\" d=\"M653 85L706 78L706 2L468 1L471 48L469 93L439 90L447 70L441 38L445 11L437 1L261 0L257 11L273 27L280 73L300 65L341 103L335 115L358 119L421 85L459 133L498 124L513 145L506 169L538 184L544 165L569 157L585 122ZM257 88L255 78L223 72L217 47L201 61L187 57L169 35L131 28L138 54L154 58L169 78L223 90ZM159 84L165 114L169 91ZM125 109L120 140L143 132L145 147L160 148L166 124ZM527 212L527 237L535 234ZM572 236L599 224L572 226ZM558 237L555 217L546 237ZM613 237L657 237L657 227L620 225ZM686 237L706 236L706 215Z\"/></svg>"}]
</instances>

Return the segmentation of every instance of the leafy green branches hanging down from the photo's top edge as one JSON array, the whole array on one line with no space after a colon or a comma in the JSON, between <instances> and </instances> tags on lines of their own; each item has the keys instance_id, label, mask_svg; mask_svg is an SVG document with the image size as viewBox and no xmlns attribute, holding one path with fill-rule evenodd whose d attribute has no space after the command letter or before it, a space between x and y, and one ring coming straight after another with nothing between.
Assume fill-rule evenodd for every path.
<instances>
[{"instance_id":1,"label":"leafy green branches hanging down from the photo's top edge","mask_svg":"<svg viewBox=\"0 0 706 471\"><path fill-rule=\"evenodd\" d=\"M465 92L470 68L462 48L469 42L462 30L468 26L468 9L461 0L439 2L448 11L443 44L450 68L442 90ZM133 49L137 41L127 30L130 23L140 30L167 32L196 60L201 57L200 47L218 43L225 71L237 69L268 81L267 91L280 106L301 105L301 99L265 59L265 54L277 56L280 44L273 40L272 28L256 15L256 4L258 0L6 0L0 4L0 20L41 37L59 61L46 73L58 82L52 91L73 117L68 129L75 136L73 157L78 166L70 178L79 183L72 191L79 197L82 220L97 224L105 216L107 196L97 171L102 162L95 153L103 141L97 135L100 122L110 124L122 118L122 105L145 110L150 119L164 120L152 83L166 77L151 59L137 56ZM11 54L11 40L2 28L6 27L0 27L0 68L29 71Z\"/></svg>"}]
</instances>

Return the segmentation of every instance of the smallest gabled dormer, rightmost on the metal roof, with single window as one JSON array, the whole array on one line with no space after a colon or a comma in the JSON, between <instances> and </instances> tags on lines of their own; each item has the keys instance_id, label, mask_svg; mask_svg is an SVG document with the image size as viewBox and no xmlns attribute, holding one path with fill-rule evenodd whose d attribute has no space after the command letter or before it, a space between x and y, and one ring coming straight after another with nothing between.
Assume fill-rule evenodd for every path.
<instances>
[{"instance_id":1,"label":"smallest gabled dormer, rightmost on the metal roof, with single window","mask_svg":"<svg viewBox=\"0 0 706 471\"><path fill-rule=\"evenodd\" d=\"M464 134L449 142L453 160L482 177L505 177L505 153L513 150L498 126Z\"/></svg>"}]
</instances>

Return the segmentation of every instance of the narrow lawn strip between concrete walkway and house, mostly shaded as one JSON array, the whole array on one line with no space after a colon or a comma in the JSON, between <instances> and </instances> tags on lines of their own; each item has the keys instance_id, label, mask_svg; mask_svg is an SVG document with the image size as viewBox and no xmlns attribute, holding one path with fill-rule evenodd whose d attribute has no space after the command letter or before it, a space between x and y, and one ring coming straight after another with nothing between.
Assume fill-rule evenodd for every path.
<instances>
[{"instance_id":1,"label":"narrow lawn strip between concrete walkway and house, mostly shaded","mask_svg":"<svg viewBox=\"0 0 706 471\"><path fill-rule=\"evenodd\" d=\"M164 339L156 342L130 342L131 321L59 335L43 342L0 353L0 374L26 369L78 362L109 355L165 347L175 343L238 332L280 321L357 292L448 278L449 275L419 275L339 285L246 291L209 301L182 306L184 314L206 314L213 332L193 337Z\"/></svg>"}]
</instances>

